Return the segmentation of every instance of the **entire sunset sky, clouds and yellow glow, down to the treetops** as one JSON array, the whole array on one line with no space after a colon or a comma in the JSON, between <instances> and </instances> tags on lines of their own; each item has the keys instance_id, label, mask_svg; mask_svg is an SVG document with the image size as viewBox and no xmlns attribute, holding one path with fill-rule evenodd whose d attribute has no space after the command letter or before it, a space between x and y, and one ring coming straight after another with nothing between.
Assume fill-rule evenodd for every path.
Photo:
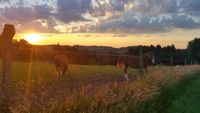
<instances>
[{"instance_id":1,"label":"entire sunset sky, clouds and yellow glow, down to the treetops","mask_svg":"<svg viewBox=\"0 0 200 113\"><path fill-rule=\"evenodd\" d=\"M200 37L200 0L0 0L5 23L34 44L186 48Z\"/></svg>"}]
</instances>

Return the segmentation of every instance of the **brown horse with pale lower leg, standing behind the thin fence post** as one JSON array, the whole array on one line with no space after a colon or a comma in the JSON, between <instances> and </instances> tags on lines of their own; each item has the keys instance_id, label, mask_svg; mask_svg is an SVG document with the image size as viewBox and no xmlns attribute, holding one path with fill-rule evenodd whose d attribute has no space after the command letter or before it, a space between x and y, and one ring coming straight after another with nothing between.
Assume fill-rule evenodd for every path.
<instances>
[{"instance_id":1,"label":"brown horse with pale lower leg, standing behind the thin fence post","mask_svg":"<svg viewBox=\"0 0 200 113\"><path fill-rule=\"evenodd\" d=\"M140 67L140 56L120 56L117 61L118 67L124 68L124 78L128 80L127 69L131 68L139 68ZM143 68L146 73L148 73L147 67L151 64L155 63L154 55L152 53L145 53L143 56Z\"/></svg>"}]
</instances>

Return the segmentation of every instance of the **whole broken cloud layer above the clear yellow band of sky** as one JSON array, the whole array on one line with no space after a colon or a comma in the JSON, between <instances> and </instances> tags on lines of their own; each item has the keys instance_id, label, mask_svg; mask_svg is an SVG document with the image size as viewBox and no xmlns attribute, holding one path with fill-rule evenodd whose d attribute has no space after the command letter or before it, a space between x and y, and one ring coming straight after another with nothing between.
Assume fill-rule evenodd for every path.
<instances>
[{"instance_id":1,"label":"whole broken cloud layer above the clear yellow band of sky","mask_svg":"<svg viewBox=\"0 0 200 113\"><path fill-rule=\"evenodd\" d=\"M160 33L200 28L199 0L20 0L0 7L0 27L20 31ZM29 5L24 5L29 3ZM0 5L1 6L1 5ZM59 28L59 29L58 29ZM79 31L78 31L79 30Z\"/></svg>"}]
</instances>

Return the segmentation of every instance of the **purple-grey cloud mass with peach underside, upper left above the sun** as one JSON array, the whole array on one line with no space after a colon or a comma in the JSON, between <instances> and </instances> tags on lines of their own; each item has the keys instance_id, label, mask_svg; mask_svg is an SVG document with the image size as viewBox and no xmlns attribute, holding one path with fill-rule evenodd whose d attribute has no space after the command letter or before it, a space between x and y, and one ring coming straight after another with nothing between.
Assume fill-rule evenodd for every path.
<instances>
[{"instance_id":1,"label":"purple-grey cloud mass with peach underside, upper left above the sun","mask_svg":"<svg viewBox=\"0 0 200 113\"><path fill-rule=\"evenodd\" d=\"M16 5L0 9L0 20L2 20L0 24L12 23L21 26L21 29L26 28L24 30L35 29L40 32L56 32L54 29L57 25L56 21L62 21L67 24L87 20L82 15L91 6L91 0L58 0L54 8L47 4L25 6L24 3L27 1L22 1L19 1ZM1 18L4 18L4 20ZM45 20L47 27L42 26L39 22L35 22L37 20Z\"/></svg>"}]
</instances>

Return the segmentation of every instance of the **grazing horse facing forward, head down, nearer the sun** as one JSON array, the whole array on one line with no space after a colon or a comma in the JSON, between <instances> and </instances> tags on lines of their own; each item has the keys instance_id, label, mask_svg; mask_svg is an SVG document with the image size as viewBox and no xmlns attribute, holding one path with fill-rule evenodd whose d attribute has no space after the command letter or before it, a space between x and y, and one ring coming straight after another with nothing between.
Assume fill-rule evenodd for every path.
<instances>
[{"instance_id":1,"label":"grazing horse facing forward, head down, nearer the sun","mask_svg":"<svg viewBox=\"0 0 200 113\"><path fill-rule=\"evenodd\" d=\"M68 58L65 54L57 54L54 56L54 64L57 70L57 78L68 71Z\"/></svg>"}]
</instances>

